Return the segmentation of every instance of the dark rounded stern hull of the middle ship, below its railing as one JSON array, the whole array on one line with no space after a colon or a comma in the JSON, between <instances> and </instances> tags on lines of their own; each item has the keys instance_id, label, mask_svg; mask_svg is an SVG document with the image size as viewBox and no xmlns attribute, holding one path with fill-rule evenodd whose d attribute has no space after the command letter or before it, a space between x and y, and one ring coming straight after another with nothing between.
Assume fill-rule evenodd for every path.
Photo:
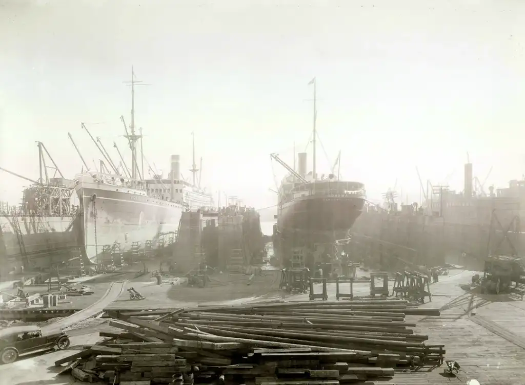
<instances>
[{"instance_id":1,"label":"dark rounded stern hull of the middle ship, below its railing","mask_svg":"<svg viewBox=\"0 0 525 385\"><path fill-rule=\"evenodd\" d=\"M278 207L279 231L346 233L361 215L364 198L315 195L282 202Z\"/></svg>"}]
</instances>

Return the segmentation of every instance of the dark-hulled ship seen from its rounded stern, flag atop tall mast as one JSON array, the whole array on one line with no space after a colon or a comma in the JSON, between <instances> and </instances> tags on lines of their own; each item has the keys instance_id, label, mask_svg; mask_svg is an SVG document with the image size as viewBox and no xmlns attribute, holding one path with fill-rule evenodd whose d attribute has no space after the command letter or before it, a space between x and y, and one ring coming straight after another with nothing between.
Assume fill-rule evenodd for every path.
<instances>
[{"instance_id":1,"label":"dark-hulled ship seen from its rounded stern, flag atop tall mast","mask_svg":"<svg viewBox=\"0 0 525 385\"><path fill-rule=\"evenodd\" d=\"M277 231L332 232L344 237L361 215L365 202L364 185L339 180L339 175L334 174L318 178L315 79L310 83L314 87L313 170L307 174L306 153L298 154L297 172L272 154L272 158L290 173L278 190Z\"/></svg>"}]
</instances>

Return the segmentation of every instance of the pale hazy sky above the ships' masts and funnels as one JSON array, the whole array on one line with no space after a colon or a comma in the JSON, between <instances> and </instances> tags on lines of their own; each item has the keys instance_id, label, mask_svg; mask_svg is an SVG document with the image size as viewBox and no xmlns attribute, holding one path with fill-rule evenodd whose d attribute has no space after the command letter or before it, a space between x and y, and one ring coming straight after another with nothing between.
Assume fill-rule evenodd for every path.
<instances>
[{"instance_id":1,"label":"pale hazy sky above the ships' masts and funnels","mask_svg":"<svg viewBox=\"0 0 525 385\"><path fill-rule=\"evenodd\" d=\"M525 173L525 4L522 1L0 0L0 167L38 177L35 141L62 173L101 155L81 130L126 149L131 93L150 163L171 154L191 175L191 132L213 191L276 203L269 154L293 163L312 130L318 82L319 173L342 151L344 179L380 198L419 199L415 167L463 189L474 175L505 187ZM99 124L94 124L99 123ZM326 150L329 159L325 156ZM311 145L309 163L311 164ZM278 164L278 181L285 175ZM425 181L424 181L425 183ZM0 171L0 199L23 180Z\"/></svg>"}]
</instances>

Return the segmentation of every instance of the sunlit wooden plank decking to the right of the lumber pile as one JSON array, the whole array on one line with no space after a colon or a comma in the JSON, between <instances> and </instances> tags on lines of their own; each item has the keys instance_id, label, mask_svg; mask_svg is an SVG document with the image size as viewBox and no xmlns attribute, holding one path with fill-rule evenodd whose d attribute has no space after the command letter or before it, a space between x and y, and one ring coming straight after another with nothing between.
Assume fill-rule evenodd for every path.
<instances>
[{"instance_id":1,"label":"sunlit wooden plank decking to the right of the lumber pile","mask_svg":"<svg viewBox=\"0 0 525 385\"><path fill-rule=\"evenodd\" d=\"M426 371L429 369L426 367L421 372L396 371L394 378L385 383L439 385L476 379L482 385L525 384L525 349L517 346L516 341L512 343L490 330L496 324L500 334L508 332L508 339L512 333L522 339L525 335L525 302L490 302L465 293L460 285L468 283L472 274L459 273L430 286L432 294L437 295L433 295L432 302L422 306L442 308L440 317L406 317L407 322L417 322L415 334L427 334L429 345L445 345L445 359L459 362L463 369L457 376L459 382L443 376L444 363L432 371ZM469 318L472 307L476 315L486 320L485 326Z\"/></svg>"}]
</instances>

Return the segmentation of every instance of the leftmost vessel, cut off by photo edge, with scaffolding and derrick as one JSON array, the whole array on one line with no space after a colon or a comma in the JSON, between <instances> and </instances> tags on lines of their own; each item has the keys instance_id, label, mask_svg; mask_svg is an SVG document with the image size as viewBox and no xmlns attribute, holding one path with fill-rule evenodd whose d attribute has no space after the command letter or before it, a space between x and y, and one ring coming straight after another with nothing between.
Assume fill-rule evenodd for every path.
<instances>
[{"instance_id":1,"label":"leftmost vessel, cut off by photo edge, with scaffolding and derrick","mask_svg":"<svg viewBox=\"0 0 525 385\"><path fill-rule=\"evenodd\" d=\"M65 179L55 167L46 166L44 144L38 142L40 178L32 180L3 169L5 172L26 179L32 184L24 189L22 202L10 206L0 204L0 270L22 272L49 268L53 264L74 257L72 249L80 242L76 224L81 221L81 210L72 205L74 181ZM49 154L48 154L49 156ZM55 168L60 177L49 177L48 168Z\"/></svg>"}]
</instances>

